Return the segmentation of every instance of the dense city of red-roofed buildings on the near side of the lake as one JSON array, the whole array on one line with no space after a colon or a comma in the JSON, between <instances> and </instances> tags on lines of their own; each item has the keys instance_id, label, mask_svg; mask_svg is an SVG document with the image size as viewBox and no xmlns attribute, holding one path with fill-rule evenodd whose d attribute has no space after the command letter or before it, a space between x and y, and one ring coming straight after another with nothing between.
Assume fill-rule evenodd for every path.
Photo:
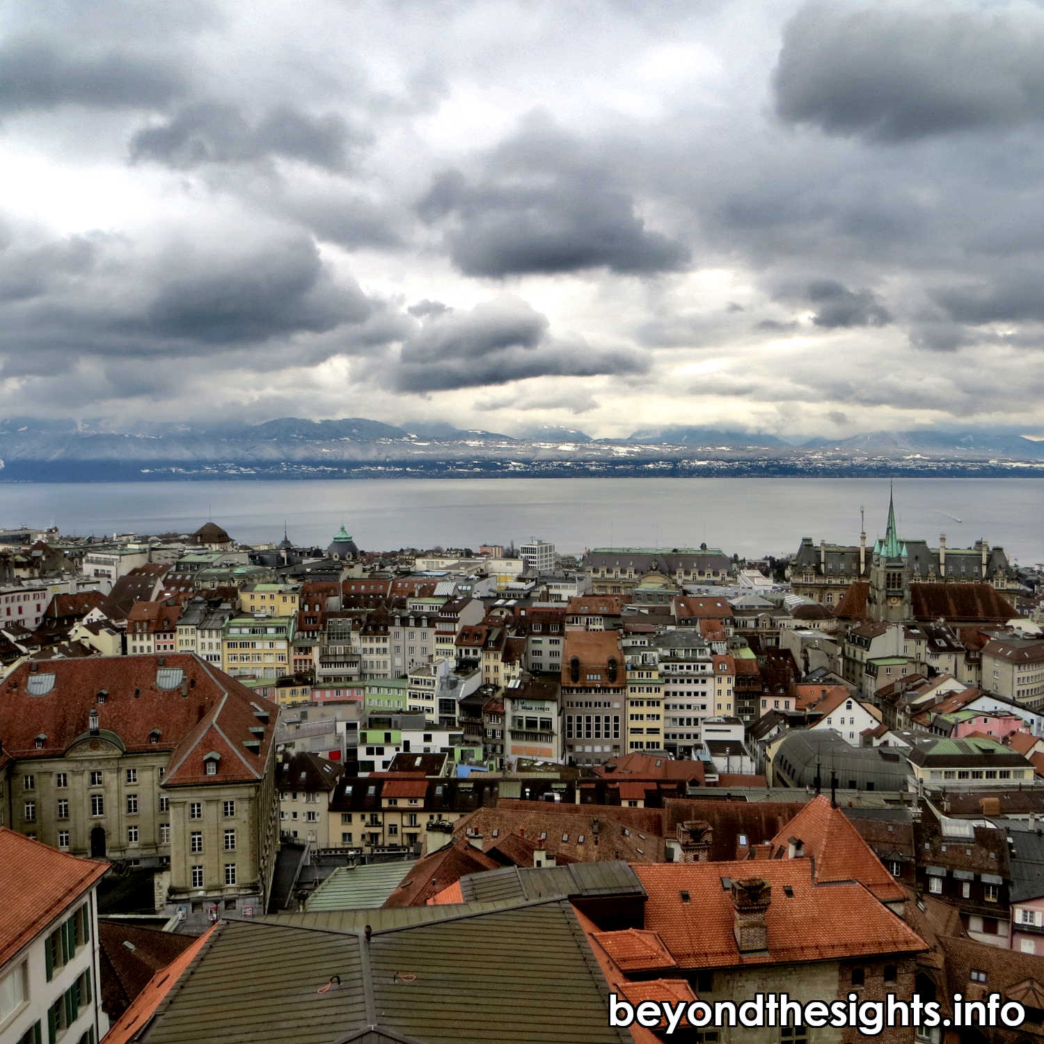
<instances>
[{"instance_id":1,"label":"dense city of red-roofed buildings on the near side of the lake","mask_svg":"<svg viewBox=\"0 0 1044 1044\"><path fill-rule=\"evenodd\" d=\"M10 1039L223 1034L234 991L441 1040L535 962L518 1039L767 981L1040 1031L1044 573L877 508L758 560L0 530Z\"/></svg>"}]
</instances>

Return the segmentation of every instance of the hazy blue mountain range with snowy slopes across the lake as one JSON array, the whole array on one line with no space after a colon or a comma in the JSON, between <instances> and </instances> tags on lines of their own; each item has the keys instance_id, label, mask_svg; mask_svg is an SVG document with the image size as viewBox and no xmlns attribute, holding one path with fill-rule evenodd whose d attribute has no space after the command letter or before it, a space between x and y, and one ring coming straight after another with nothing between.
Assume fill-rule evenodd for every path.
<instances>
[{"instance_id":1,"label":"hazy blue mountain range with snowy slopes across the lake","mask_svg":"<svg viewBox=\"0 0 1044 1044\"><path fill-rule=\"evenodd\" d=\"M699 426L637 429L593 438L540 426L516 435L447 423L366 418L261 424L0 419L0 479L334 477L373 474L1029 474L1044 441L999 430L879 431L788 443L776 435Z\"/></svg>"}]
</instances>

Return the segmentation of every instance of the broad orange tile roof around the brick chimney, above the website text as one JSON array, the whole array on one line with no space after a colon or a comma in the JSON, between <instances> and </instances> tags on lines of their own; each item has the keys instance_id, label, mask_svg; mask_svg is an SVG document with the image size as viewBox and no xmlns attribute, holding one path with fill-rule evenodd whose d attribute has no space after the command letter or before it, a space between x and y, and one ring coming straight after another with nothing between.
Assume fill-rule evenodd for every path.
<instances>
[{"instance_id":1,"label":"broad orange tile roof around the brick chimney, above the website text","mask_svg":"<svg viewBox=\"0 0 1044 1044\"><path fill-rule=\"evenodd\" d=\"M861 884L815 883L810 859L634 863L632 869L648 894L645 927L660 935L682 968L831 960L926 949L924 941ZM765 910L768 948L741 954L734 933L735 908L722 879L743 880L755 874L772 887Z\"/></svg>"}]
</instances>

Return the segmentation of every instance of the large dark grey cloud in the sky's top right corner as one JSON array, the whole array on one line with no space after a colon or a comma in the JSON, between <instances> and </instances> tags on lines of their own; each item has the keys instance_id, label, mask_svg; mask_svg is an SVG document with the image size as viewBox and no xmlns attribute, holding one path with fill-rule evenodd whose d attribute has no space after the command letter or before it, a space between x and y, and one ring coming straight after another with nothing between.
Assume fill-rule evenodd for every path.
<instances>
[{"instance_id":1,"label":"large dark grey cloud in the sky's top right corner","mask_svg":"<svg viewBox=\"0 0 1044 1044\"><path fill-rule=\"evenodd\" d=\"M1039 18L811 3L786 27L773 86L788 122L902 142L1041 119L1042 63Z\"/></svg>"}]
</instances>

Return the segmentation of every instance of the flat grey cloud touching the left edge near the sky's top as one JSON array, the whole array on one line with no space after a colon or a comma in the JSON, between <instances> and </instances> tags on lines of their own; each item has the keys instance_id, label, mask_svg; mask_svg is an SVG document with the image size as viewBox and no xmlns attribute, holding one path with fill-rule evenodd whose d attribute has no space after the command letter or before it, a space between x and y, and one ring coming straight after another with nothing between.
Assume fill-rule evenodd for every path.
<instances>
[{"instance_id":1,"label":"flat grey cloud touching the left edge near the sky's top","mask_svg":"<svg viewBox=\"0 0 1044 1044\"><path fill-rule=\"evenodd\" d=\"M0 45L0 114L58 105L159 109L184 90L182 74L156 57L119 50L77 56L44 40Z\"/></svg>"}]
</instances>

